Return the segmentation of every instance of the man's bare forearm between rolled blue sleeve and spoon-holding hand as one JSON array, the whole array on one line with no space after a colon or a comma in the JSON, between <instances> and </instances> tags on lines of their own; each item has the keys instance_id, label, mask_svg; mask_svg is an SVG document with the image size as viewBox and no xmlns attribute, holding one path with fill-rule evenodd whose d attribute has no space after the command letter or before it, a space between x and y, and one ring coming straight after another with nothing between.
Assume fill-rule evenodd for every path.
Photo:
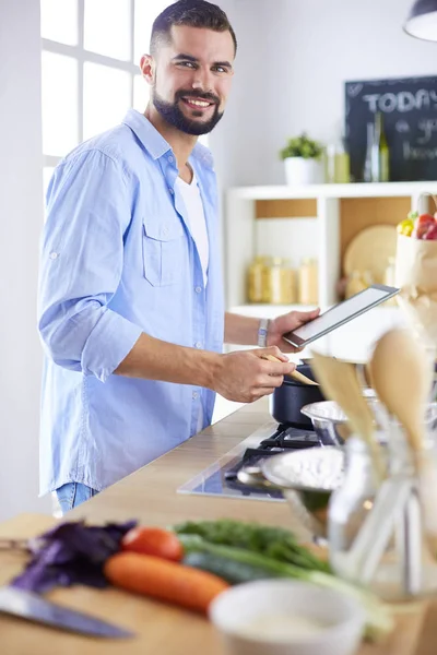
<instances>
[{"instance_id":1,"label":"man's bare forearm between rolled blue sleeve and spoon-holding hand","mask_svg":"<svg viewBox=\"0 0 437 655\"><path fill-rule=\"evenodd\" d=\"M211 389L218 366L216 353L177 346L143 333L114 372Z\"/></svg>"}]
</instances>

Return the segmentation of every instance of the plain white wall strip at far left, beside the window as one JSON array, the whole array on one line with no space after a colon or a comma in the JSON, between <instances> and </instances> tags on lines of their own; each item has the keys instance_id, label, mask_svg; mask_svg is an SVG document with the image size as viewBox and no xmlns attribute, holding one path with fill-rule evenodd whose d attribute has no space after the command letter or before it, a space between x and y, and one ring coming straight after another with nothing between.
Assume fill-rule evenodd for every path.
<instances>
[{"instance_id":1,"label":"plain white wall strip at far left, beside the window","mask_svg":"<svg viewBox=\"0 0 437 655\"><path fill-rule=\"evenodd\" d=\"M42 193L39 2L1 0L0 520L50 510L37 498Z\"/></svg>"}]
</instances>

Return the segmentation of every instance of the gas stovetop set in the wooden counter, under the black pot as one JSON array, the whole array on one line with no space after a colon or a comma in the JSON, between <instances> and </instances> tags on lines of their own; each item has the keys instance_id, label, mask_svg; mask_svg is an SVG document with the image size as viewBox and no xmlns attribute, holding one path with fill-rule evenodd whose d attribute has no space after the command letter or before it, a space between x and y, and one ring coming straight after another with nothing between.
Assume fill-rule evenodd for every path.
<instances>
[{"instance_id":1,"label":"gas stovetop set in the wooden counter, under the black pot","mask_svg":"<svg viewBox=\"0 0 437 655\"><path fill-rule=\"evenodd\" d=\"M238 480L238 472L247 466L259 466L265 457L315 445L319 445L319 441L311 429L268 424L182 485L178 492L281 501L281 491L244 485Z\"/></svg>"}]
</instances>

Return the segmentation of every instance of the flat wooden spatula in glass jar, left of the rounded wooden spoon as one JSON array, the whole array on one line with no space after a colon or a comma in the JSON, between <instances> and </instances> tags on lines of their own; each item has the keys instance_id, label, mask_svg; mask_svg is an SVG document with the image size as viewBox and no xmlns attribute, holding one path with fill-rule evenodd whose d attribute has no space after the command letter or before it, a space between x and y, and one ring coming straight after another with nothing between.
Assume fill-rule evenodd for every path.
<instances>
[{"instance_id":1,"label":"flat wooden spatula in glass jar, left of the rounded wooden spoon","mask_svg":"<svg viewBox=\"0 0 437 655\"><path fill-rule=\"evenodd\" d=\"M386 475L386 466L379 444L374 436L371 412L363 397L355 365L320 353L312 353L312 368L316 371L323 394L339 403L354 432L367 443L375 474L378 480L381 480Z\"/></svg>"}]
</instances>

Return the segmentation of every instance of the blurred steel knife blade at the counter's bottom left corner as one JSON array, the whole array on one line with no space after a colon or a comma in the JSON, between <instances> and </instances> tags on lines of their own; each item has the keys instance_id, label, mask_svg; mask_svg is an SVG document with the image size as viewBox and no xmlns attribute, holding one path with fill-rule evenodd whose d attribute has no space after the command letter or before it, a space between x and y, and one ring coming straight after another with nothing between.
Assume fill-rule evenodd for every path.
<instances>
[{"instance_id":1,"label":"blurred steel knife blade at the counter's bottom left corner","mask_svg":"<svg viewBox=\"0 0 437 655\"><path fill-rule=\"evenodd\" d=\"M133 636L133 632L11 586L0 587L0 612L91 636Z\"/></svg>"}]
</instances>

